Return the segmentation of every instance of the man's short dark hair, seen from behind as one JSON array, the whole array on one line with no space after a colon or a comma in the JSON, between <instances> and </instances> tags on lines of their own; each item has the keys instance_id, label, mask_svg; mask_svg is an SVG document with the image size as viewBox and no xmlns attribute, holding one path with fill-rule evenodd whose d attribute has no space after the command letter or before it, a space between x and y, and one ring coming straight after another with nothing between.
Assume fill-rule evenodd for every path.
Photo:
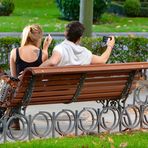
<instances>
[{"instance_id":1,"label":"man's short dark hair, seen from behind","mask_svg":"<svg viewBox=\"0 0 148 148\"><path fill-rule=\"evenodd\" d=\"M84 33L84 26L78 21L71 22L66 26L67 40L76 43Z\"/></svg>"}]
</instances>

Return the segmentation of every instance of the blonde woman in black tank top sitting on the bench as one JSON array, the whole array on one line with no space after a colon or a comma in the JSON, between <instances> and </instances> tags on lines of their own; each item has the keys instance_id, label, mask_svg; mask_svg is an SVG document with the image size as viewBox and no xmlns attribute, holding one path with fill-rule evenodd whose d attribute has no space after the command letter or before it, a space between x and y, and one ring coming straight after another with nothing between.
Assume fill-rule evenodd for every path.
<instances>
[{"instance_id":1,"label":"blonde woman in black tank top sitting on the bench","mask_svg":"<svg viewBox=\"0 0 148 148\"><path fill-rule=\"evenodd\" d=\"M40 49L43 31L40 25L26 26L22 32L21 47L12 49L10 54L11 76L18 77L26 67L37 67L48 59L48 47L51 36L45 38L43 49Z\"/></svg>"}]
</instances>

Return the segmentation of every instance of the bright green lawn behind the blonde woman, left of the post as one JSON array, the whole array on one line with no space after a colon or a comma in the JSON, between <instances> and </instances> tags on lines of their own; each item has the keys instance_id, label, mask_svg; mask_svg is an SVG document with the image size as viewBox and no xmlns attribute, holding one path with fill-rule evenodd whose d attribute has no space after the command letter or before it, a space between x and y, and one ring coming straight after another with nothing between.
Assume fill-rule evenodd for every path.
<instances>
[{"instance_id":1,"label":"bright green lawn behind the blonde woman, left of the post","mask_svg":"<svg viewBox=\"0 0 148 148\"><path fill-rule=\"evenodd\" d=\"M63 31L67 22L58 19L54 0L13 0L15 10L11 16L0 17L0 32L21 32L24 26L38 23L44 31Z\"/></svg>"}]
</instances>

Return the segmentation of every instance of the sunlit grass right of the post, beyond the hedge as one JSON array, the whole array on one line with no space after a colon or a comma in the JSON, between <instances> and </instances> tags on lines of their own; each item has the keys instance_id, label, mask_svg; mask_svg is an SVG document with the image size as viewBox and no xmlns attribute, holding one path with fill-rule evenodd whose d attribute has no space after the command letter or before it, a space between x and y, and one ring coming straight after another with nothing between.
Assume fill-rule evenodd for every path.
<instances>
[{"instance_id":1,"label":"sunlit grass right of the post, beyond the hedge","mask_svg":"<svg viewBox=\"0 0 148 148\"><path fill-rule=\"evenodd\" d=\"M147 32L148 18L128 18L113 14L103 14L102 18L93 25L98 32Z\"/></svg>"}]
</instances>

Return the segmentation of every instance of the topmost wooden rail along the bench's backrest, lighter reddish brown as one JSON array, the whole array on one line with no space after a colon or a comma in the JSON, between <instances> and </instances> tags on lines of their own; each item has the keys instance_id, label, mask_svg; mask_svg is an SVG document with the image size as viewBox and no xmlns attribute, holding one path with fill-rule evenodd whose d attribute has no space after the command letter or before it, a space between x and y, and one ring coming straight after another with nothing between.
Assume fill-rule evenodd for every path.
<instances>
[{"instance_id":1,"label":"topmost wooden rail along the bench's backrest, lighter reddish brown","mask_svg":"<svg viewBox=\"0 0 148 148\"><path fill-rule=\"evenodd\" d=\"M79 73L79 72L89 72L89 71L117 71L117 70L141 70L147 69L148 62L133 62L133 63L116 63L116 64L94 64L94 65L84 65L84 66L67 66L65 67L47 67L47 68L28 68L33 74L39 75L42 73ZM27 71L27 69L26 69Z\"/></svg>"}]
</instances>

